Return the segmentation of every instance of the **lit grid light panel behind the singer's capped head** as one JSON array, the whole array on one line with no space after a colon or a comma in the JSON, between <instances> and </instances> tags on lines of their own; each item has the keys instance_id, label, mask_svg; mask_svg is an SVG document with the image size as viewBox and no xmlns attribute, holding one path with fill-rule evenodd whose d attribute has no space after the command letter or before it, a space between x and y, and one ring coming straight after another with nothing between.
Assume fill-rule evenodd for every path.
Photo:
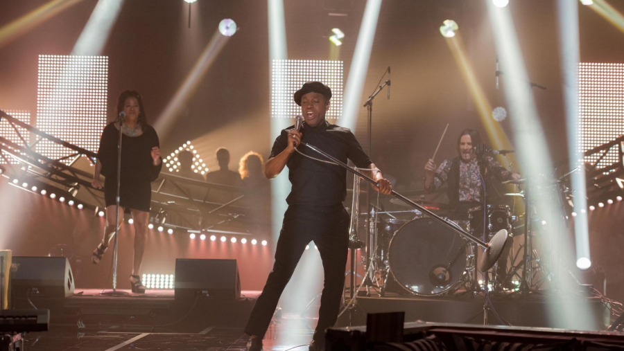
<instances>
[{"instance_id":1,"label":"lit grid light panel behind the singer's capped head","mask_svg":"<svg viewBox=\"0 0 624 351\"><path fill-rule=\"evenodd\" d=\"M294 118L301 107L293 100L305 82L318 81L331 89L331 106L325 118L343 114L343 61L273 60L271 117Z\"/></svg>"}]
</instances>

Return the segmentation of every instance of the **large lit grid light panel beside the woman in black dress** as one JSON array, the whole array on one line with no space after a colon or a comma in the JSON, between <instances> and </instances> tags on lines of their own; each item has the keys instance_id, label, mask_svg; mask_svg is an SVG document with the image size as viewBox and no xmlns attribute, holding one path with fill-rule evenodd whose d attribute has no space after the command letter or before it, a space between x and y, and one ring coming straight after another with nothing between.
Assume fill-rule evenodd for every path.
<instances>
[{"instance_id":1,"label":"large lit grid light panel beside the woman in black dress","mask_svg":"<svg viewBox=\"0 0 624 351\"><path fill-rule=\"evenodd\" d=\"M107 56L39 55L37 128L42 132L97 152L107 97ZM74 153L47 140L37 144L37 152L51 159Z\"/></svg>"}]
</instances>

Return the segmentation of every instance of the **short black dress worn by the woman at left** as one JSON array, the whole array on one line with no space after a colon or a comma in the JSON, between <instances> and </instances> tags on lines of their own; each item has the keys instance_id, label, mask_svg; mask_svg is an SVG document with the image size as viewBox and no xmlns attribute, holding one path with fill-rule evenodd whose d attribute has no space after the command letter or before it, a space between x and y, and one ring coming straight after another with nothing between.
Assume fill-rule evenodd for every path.
<instances>
[{"instance_id":1,"label":"short black dress worn by the woman at left","mask_svg":"<svg viewBox=\"0 0 624 351\"><path fill-rule=\"evenodd\" d=\"M117 140L119 129L114 123L104 128L98 149L98 161L102 163L104 181L104 199L106 206L115 204L117 186ZM158 178L162 169L153 164L152 147L160 146L158 136L149 125L139 136L121 138L121 182L119 186L119 205L149 212L152 199L150 183Z\"/></svg>"}]
</instances>

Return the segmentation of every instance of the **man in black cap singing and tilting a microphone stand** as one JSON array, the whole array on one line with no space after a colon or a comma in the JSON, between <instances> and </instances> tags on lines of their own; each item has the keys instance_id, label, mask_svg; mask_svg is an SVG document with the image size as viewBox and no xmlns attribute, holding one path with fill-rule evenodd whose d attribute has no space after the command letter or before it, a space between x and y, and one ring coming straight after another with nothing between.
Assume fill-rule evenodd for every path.
<instances>
[{"instance_id":1,"label":"man in black cap singing and tilting a microphone stand","mask_svg":"<svg viewBox=\"0 0 624 351\"><path fill-rule=\"evenodd\" d=\"M367 172L379 184L379 188L373 187L375 190L383 194L392 192L390 182L376 170L352 132L325 120L329 99L331 90L321 82L306 82L295 93L295 102L301 106L304 123L300 131L294 127L281 131L265 164L264 174L269 179L277 177L284 166L288 166L288 180L292 188L286 198L288 210L277 240L275 264L245 327L245 333L250 335L247 343L247 350L250 351L262 350L262 339L279 296L311 241L318 247L325 281L318 325L309 350L324 349L324 330L336 323L340 312L349 244L349 215L342 204L347 195L347 170L298 153L324 159L309 148L300 147L298 152L295 148L303 141L345 163L350 159L358 168L370 169Z\"/></svg>"}]
</instances>

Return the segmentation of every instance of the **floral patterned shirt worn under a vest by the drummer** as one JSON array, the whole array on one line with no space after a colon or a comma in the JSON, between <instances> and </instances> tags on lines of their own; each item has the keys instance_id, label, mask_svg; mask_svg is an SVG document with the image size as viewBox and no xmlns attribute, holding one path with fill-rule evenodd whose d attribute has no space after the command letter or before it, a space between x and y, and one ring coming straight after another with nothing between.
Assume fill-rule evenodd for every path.
<instances>
[{"instance_id":1,"label":"floral patterned shirt worn under a vest by the drummer","mask_svg":"<svg viewBox=\"0 0 624 351\"><path fill-rule=\"evenodd\" d=\"M492 174L499 181L507 181L511 179L512 172L505 170L500 163L498 163L494 157L485 155L485 162L487 162L487 168L492 170ZM433 191L444 185L449 179L449 172L451 172L451 165L453 159L447 159L440 164L433 176L433 184L427 190ZM460 177L459 177L459 201L467 202L480 202L483 201L483 185L480 181L479 174L479 162L477 159L465 162L460 161Z\"/></svg>"}]
</instances>

